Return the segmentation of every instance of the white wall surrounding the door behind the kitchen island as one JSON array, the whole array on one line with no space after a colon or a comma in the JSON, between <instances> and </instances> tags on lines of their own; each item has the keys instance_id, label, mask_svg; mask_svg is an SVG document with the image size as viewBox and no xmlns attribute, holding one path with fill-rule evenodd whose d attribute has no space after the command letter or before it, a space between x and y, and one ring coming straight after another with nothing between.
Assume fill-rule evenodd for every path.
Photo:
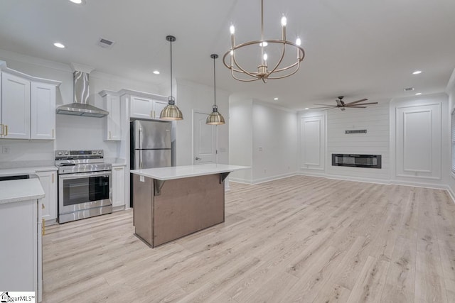
<instances>
[{"instance_id":1,"label":"white wall surrounding the door behind the kitchen island","mask_svg":"<svg viewBox=\"0 0 455 303\"><path fill-rule=\"evenodd\" d=\"M213 87L185 79L176 80L176 104L182 111L183 120L176 122L176 165L193 164L193 111L210 114L213 106ZM218 162L229 162L229 105L228 93L216 90L218 111L225 117L225 124L217 128Z\"/></svg>"}]
</instances>

